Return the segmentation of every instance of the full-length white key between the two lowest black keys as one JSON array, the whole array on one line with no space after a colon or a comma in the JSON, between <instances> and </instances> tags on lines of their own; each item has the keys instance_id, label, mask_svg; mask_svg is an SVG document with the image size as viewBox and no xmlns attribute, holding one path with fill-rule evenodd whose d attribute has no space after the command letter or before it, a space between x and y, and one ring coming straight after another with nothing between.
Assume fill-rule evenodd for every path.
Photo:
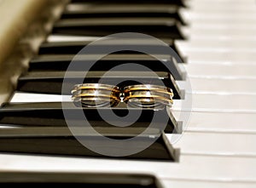
<instances>
[{"instance_id":1,"label":"full-length white key between the two lowest black keys","mask_svg":"<svg viewBox=\"0 0 256 188\"><path fill-rule=\"evenodd\" d=\"M143 162L79 157L0 155L2 170L151 173L160 179L246 182L256 179L255 157L182 155L180 162Z\"/></svg>"}]
</instances>

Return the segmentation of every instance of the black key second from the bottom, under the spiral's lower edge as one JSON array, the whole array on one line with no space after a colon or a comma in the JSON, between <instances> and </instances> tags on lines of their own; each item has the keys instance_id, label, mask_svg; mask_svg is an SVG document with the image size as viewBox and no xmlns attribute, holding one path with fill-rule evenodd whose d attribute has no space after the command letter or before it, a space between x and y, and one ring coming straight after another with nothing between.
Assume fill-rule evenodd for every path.
<instances>
[{"instance_id":1,"label":"black key second from the bottom, under the spiral's lower edge","mask_svg":"<svg viewBox=\"0 0 256 188\"><path fill-rule=\"evenodd\" d=\"M178 160L178 150L174 150L166 139L166 135L157 129L149 129L147 134L141 134L141 128L94 128L97 133L91 133L87 128L77 128L76 136L84 142L94 145L95 151L104 148L108 151L118 153L130 153L140 150L145 143L152 143L147 149L136 154L125 157L105 156L98 152L91 151L76 140L69 128L3 128L0 133L0 152L8 153L29 153L40 155L113 158L113 159L134 159L134 160L157 160L175 162ZM143 128L144 129L144 128ZM102 140L102 136L111 140L125 140L127 145L116 145L113 142ZM131 138L137 137L137 140ZM157 138L157 140L155 140ZM133 146L134 145L134 146Z\"/></svg>"}]
</instances>

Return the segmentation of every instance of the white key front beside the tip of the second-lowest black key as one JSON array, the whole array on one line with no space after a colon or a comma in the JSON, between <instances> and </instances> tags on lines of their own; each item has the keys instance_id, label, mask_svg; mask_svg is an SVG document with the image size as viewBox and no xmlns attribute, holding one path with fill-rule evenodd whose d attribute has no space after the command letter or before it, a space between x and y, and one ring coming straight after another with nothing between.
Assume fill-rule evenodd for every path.
<instances>
[{"instance_id":1,"label":"white key front beside the tip of the second-lowest black key","mask_svg":"<svg viewBox=\"0 0 256 188\"><path fill-rule=\"evenodd\" d=\"M223 124L224 126L224 124ZM172 134L167 134L171 140ZM225 130L184 130L174 144L182 153L256 157L256 132L229 133Z\"/></svg>"}]
</instances>

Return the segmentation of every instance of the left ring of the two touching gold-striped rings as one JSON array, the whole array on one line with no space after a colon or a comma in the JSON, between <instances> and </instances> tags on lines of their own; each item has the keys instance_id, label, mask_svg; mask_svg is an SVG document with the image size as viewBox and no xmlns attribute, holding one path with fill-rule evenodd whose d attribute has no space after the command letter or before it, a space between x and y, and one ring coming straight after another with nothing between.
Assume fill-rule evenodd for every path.
<instances>
[{"instance_id":1,"label":"left ring of the two touching gold-striped rings","mask_svg":"<svg viewBox=\"0 0 256 188\"><path fill-rule=\"evenodd\" d=\"M101 83L75 85L72 100L77 106L112 107L120 102L120 89L117 86Z\"/></svg>"}]
</instances>

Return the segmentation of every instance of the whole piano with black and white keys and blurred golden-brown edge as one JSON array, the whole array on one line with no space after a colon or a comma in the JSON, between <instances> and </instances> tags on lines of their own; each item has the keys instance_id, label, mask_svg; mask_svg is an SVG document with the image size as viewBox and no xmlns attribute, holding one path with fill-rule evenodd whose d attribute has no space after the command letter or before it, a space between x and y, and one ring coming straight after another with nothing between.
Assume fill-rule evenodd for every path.
<instances>
[{"instance_id":1,"label":"whole piano with black and white keys and blurred golden-brown edge","mask_svg":"<svg viewBox=\"0 0 256 188\"><path fill-rule=\"evenodd\" d=\"M125 187L255 187L255 1L96 2L0 0L0 15L6 18L2 19L0 27L0 184L55 182L61 185L69 182L88 185L88 182L98 183L95 179L99 179L103 185ZM15 14L9 15L10 8ZM156 74L149 77L147 71L142 74L131 68L112 72L102 82L117 92L119 89L113 85L124 77L137 78L146 85L158 85L158 78L161 78L172 89L173 99L168 98L165 103L169 106L168 113L162 111L163 105L155 110L168 120L168 127L162 131L150 129L126 150L116 145L120 152L132 151L138 143L158 138L144 151L128 157L104 155L104 152L109 154L108 149L111 151L108 143L97 143L99 150L107 145L103 153L83 149L70 139L68 122L63 120L70 111L82 109L89 115L92 127L117 140L130 139L148 125L151 108L137 108L138 104L132 103L131 110L140 109L143 117L131 128L109 128L108 123L95 115L95 108L88 106L88 100L79 98L81 93L77 89L86 91L88 85L73 88L78 94L74 99L84 101L78 103L79 106L73 105L69 91L81 75L79 70L72 70L75 75L72 78L76 79L67 79L72 84L67 90L61 90L63 72L70 61L74 64L84 61L83 57L73 60L73 55L114 31L152 35L165 42L165 48L172 47L180 57L172 60L166 58L168 54L160 54L172 67L172 71L167 72L165 67L154 66L159 63L155 58L126 50L97 61L99 66L94 66L84 79L88 84L100 80L101 71L109 69L106 64L139 62L139 65L150 66ZM133 39L122 43L134 44ZM138 41L141 48L155 44L142 38ZM114 47L120 45L118 39L114 42L110 39L109 43ZM108 40L104 44L103 49L108 46ZM92 60L95 54L90 54ZM106 70L102 70L103 66ZM125 87L133 84L119 84L120 93L127 97ZM112 99L115 99L112 104L115 113L125 116L125 102ZM61 104L67 108L64 117ZM80 106L83 104L87 106ZM108 110L108 106L101 109ZM75 120L76 125L83 126L80 119ZM162 121L157 124L165 125ZM83 132L78 128L76 131L79 136L85 136L85 140L90 137L89 142L97 138L90 130ZM71 145L65 144L67 139L72 141ZM60 176L65 178L60 179Z\"/></svg>"}]
</instances>

